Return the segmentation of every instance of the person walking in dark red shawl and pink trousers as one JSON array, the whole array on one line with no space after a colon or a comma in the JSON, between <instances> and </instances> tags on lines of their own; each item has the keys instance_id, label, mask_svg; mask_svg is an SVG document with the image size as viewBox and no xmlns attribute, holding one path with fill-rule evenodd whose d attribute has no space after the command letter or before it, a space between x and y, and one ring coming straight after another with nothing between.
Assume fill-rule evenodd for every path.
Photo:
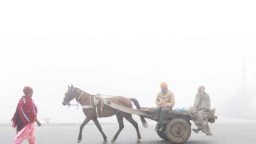
<instances>
[{"instance_id":1,"label":"person walking in dark red shawl and pink trousers","mask_svg":"<svg viewBox=\"0 0 256 144\"><path fill-rule=\"evenodd\" d=\"M37 107L33 103L32 88L26 86L23 92L25 96L20 98L12 118L12 127L16 128L17 133L13 144L20 144L25 139L28 139L30 144L35 144L34 122L37 122L38 126L41 126L41 123L37 120Z\"/></svg>"}]
</instances>

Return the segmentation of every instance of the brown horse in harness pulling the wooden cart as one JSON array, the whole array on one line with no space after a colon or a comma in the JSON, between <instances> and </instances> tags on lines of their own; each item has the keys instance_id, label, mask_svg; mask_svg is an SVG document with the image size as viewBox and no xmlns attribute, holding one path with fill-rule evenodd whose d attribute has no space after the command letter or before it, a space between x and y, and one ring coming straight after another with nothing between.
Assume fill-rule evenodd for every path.
<instances>
[{"instance_id":1,"label":"brown horse in harness pulling the wooden cart","mask_svg":"<svg viewBox=\"0 0 256 144\"><path fill-rule=\"evenodd\" d=\"M98 122L98 115L96 113L95 105L92 104L92 103L95 102L94 97L95 97L95 95L87 94L86 92L83 92L83 90L79 90L79 88L75 88L75 87L73 87L73 85L71 85L71 87L68 86L68 92L66 92L64 100L62 102L63 105L69 105L70 101L72 99L76 99L78 101L78 103L80 103L83 106L83 113L85 114L86 118L80 126L80 131L79 131L79 136L78 136L77 143L81 142L83 127L90 120L93 120L93 122L95 122L98 130L102 134L103 139L104 139L103 143L107 142L107 137L104 134L104 132L102 131L100 123ZM124 98L124 97L121 97L121 96L117 96L117 97L113 97L113 98L106 98L106 99L115 101L116 103L119 103L121 105L124 105L126 107L130 107L130 108L133 107L133 105L131 103L131 101L133 101L133 103L136 105L137 109L140 109L140 105L139 105L139 102L137 101L137 99L128 99L128 98ZM135 127L135 129L137 131L137 143L140 143L141 136L140 136L140 132L139 132L139 127L138 127L137 122L133 119L132 115L129 114L129 113L123 113L122 111L118 111L117 109L113 109L113 108L108 107L106 105L106 106L104 106L104 109L102 109L102 113L101 113L100 116L102 116L102 117L111 117L113 115L116 115L116 117L117 117L117 122L119 124L119 130L117 130L116 135L114 135L114 137L112 139L112 143L114 143L116 141L119 133L124 128L123 118L127 119L131 124L133 124L133 126ZM147 123L146 123L145 118L140 116L140 120L142 122L142 125L146 128Z\"/></svg>"}]
</instances>

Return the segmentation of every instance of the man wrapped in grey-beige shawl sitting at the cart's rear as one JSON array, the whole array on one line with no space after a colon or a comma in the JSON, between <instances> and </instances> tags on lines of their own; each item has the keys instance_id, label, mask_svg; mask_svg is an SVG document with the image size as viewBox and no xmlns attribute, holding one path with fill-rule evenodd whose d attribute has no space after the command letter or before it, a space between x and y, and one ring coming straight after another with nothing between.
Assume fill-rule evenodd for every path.
<instances>
[{"instance_id":1,"label":"man wrapped in grey-beige shawl sitting at the cart's rear","mask_svg":"<svg viewBox=\"0 0 256 144\"><path fill-rule=\"evenodd\" d=\"M200 130L204 132L207 136L211 136L211 130L208 125L208 118L210 117L211 109L211 99L209 95L205 92L204 86L198 87L198 94L196 94L196 99L194 102L194 107L190 112L192 120L198 126L198 129L192 129L194 132L198 133Z\"/></svg>"}]
</instances>

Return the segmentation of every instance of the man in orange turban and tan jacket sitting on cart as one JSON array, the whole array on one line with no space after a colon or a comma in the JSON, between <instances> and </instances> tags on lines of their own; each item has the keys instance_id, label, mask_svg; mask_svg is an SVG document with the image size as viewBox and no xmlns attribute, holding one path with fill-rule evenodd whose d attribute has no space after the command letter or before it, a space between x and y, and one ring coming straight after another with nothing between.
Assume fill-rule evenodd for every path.
<instances>
[{"instance_id":1,"label":"man in orange turban and tan jacket sitting on cart","mask_svg":"<svg viewBox=\"0 0 256 144\"><path fill-rule=\"evenodd\" d=\"M156 115L158 117L158 123L156 124L156 131L163 130L163 126L165 124L165 115L167 111L173 109L173 105L175 104L175 99L173 92L168 90L168 85L165 82L161 83L161 92L158 93L156 98Z\"/></svg>"}]
</instances>

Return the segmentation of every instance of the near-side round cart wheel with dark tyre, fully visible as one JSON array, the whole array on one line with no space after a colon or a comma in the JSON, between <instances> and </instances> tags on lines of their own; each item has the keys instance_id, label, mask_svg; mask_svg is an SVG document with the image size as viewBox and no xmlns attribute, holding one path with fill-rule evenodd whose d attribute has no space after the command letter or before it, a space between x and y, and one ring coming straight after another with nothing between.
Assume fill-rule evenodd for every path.
<instances>
[{"instance_id":1,"label":"near-side round cart wheel with dark tyre, fully visible","mask_svg":"<svg viewBox=\"0 0 256 144\"><path fill-rule=\"evenodd\" d=\"M184 143L191 134L188 121L183 118L174 118L165 127L165 136L172 143Z\"/></svg>"}]
</instances>

